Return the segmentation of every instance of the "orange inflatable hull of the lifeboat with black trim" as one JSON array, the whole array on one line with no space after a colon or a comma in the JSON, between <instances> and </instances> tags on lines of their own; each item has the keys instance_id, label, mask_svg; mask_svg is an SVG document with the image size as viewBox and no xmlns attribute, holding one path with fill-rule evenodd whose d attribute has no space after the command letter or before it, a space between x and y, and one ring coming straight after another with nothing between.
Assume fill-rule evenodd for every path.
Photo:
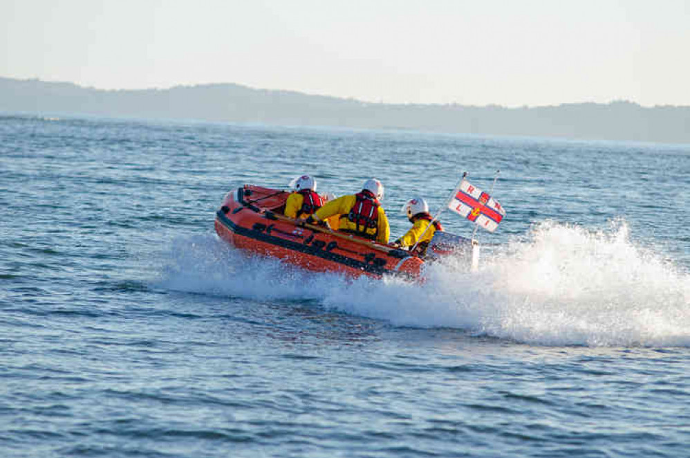
<instances>
[{"instance_id":1,"label":"orange inflatable hull of the lifeboat with black trim","mask_svg":"<svg viewBox=\"0 0 690 458\"><path fill-rule=\"evenodd\" d=\"M229 192L216 213L218 237L259 255L310 271L417 278L424 261L407 251L283 217L289 192L245 185Z\"/></svg>"}]
</instances>

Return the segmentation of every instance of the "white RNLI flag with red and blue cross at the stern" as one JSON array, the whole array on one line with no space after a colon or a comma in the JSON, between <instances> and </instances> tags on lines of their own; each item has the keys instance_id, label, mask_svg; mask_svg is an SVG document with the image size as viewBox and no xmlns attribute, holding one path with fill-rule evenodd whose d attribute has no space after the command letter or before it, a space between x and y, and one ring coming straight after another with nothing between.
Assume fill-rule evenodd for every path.
<instances>
[{"instance_id":1,"label":"white RNLI flag with red and blue cross at the stern","mask_svg":"<svg viewBox=\"0 0 690 458\"><path fill-rule=\"evenodd\" d=\"M498 201L471 185L465 178L460 181L460 186L455 190L448 208L489 232L494 232L498 223L505 217L505 210Z\"/></svg>"}]
</instances>

